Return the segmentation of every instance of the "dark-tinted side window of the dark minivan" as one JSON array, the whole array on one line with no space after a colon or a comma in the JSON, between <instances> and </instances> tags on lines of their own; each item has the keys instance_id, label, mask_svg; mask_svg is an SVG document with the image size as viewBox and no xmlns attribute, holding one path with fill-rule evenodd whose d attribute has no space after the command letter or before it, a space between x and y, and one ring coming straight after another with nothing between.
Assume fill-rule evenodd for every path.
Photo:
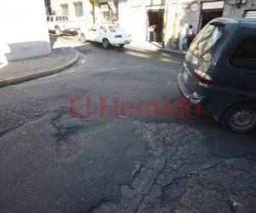
<instances>
[{"instance_id":1,"label":"dark-tinted side window of the dark minivan","mask_svg":"<svg viewBox=\"0 0 256 213\"><path fill-rule=\"evenodd\" d=\"M256 37L248 37L238 45L230 65L256 72Z\"/></svg>"}]
</instances>

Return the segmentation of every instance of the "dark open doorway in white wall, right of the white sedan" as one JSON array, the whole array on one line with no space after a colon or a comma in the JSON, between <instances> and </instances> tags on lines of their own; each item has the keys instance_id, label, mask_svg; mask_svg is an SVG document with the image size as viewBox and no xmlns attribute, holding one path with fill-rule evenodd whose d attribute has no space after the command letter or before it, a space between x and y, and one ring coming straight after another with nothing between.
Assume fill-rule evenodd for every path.
<instances>
[{"instance_id":1,"label":"dark open doorway in white wall, right of the white sedan","mask_svg":"<svg viewBox=\"0 0 256 213\"><path fill-rule=\"evenodd\" d=\"M148 10L148 41L161 43L164 31L164 9Z\"/></svg>"}]
</instances>

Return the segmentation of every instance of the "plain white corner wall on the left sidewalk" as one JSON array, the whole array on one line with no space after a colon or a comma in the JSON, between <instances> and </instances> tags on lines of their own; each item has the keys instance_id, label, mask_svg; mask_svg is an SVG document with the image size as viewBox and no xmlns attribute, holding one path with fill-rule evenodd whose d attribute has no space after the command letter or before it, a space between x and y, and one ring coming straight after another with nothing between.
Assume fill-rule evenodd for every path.
<instances>
[{"instance_id":1,"label":"plain white corner wall on the left sidewalk","mask_svg":"<svg viewBox=\"0 0 256 213\"><path fill-rule=\"evenodd\" d=\"M0 61L50 53L44 0L1 0L0 26Z\"/></svg>"}]
</instances>

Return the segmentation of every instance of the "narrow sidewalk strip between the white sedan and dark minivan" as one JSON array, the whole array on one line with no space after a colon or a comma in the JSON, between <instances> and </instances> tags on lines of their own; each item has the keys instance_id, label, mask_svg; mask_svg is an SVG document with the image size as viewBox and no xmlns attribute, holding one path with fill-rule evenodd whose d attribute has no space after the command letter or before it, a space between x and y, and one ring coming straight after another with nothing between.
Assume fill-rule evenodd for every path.
<instances>
[{"instance_id":1,"label":"narrow sidewalk strip between the white sedan and dark minivan","mask_svg":"<svg viewBox=\"0 0 256 213\"><path fill-rule=\"evenodd\" d=\"M129 45L125 46L126 48L131 48L131 49L144 49L144 50L149 50L149 51L162 51L170 54L176 54L176 55L186 55L186 51L180 51L176 49L170 49L170 48L162 48L159 43L154 43L154 42L136 42L133 41Z\"/></svg>"}]
</instances>

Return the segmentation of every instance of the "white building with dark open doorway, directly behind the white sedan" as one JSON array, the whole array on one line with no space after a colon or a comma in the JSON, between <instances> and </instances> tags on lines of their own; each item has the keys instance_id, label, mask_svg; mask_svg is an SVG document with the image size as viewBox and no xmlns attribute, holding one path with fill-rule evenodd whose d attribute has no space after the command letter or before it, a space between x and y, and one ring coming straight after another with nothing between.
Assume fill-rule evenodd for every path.
<instances>
[{"instance_id":1,"label":"white building with dark open doorway, directly behind the white sedan","mask_svg":"<svg viewBox=\"0 0 256 213\"><path fill-rule=\"evenodd\" d=\"M96 20L118 20L133 41L162 42L165 33L165 0L96 0ZM150 33L150 26L156 26Z\"/></svg>"}]
</instances>

